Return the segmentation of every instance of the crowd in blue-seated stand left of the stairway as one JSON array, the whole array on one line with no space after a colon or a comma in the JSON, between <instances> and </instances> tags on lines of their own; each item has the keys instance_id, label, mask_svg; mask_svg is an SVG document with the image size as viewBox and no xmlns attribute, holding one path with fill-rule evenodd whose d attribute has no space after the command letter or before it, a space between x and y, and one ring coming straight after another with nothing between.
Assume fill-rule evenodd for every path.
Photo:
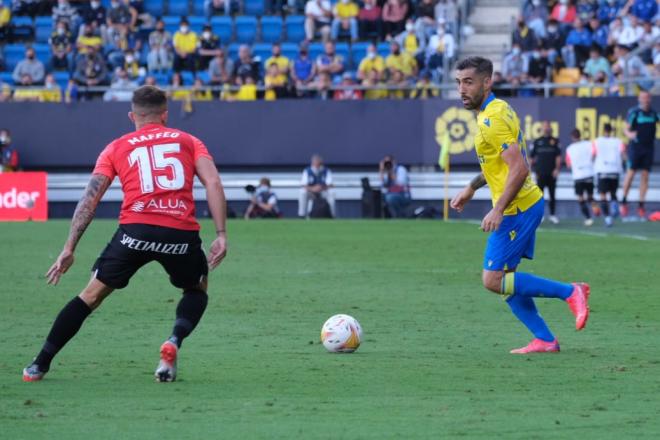
<instances>
[{"instance_id":1,"label":"crowd in blue-seated stand left of the stairway","mask_svg":"<svg viewBox=\"0 0 660 440\"><path fill-rule=\"evenodd\" d=\"M437 96L463 1L5 0L0 101Z\"/></svg>"}]
</instances>

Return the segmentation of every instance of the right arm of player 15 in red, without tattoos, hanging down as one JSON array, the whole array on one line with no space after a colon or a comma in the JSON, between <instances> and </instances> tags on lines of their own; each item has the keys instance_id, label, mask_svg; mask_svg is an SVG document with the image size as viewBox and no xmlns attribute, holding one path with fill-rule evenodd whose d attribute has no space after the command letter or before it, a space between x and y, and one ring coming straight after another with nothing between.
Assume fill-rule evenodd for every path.
<instances>
[{"instance_id":1,"label":"right arm of player 15 in red, without tattoos, hanging down","mask_svg":"<svg viewBox=\"0 0 660 440\"><path fill-rule=\"evenodd\" d=\"M220 175L208 157L200 157L195 164L197 177L206 188L206 201L215 224L216 239L211 243L208 255L209 267L215 269L227 255L227 201Z\"/></svg>"}]
</instances>

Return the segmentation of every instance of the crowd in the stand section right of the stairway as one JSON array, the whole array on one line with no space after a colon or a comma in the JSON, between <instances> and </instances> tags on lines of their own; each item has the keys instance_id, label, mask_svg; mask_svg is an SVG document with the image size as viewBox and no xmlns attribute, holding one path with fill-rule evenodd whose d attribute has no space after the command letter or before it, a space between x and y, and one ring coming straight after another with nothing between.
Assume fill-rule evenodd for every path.
<instances>
[{"instance_id":1,"label":"crowd in the stand section right of the stairway","mask_svg":"<svg viewBox=\"0 0 660 440\"><path fill-rule=\"evenodd\" d=\"M495 74L511 86L501 94L519 96L541 94L530 85L549 81L581 86L559 94L622 96L626 79L634 91L660 87L657 0L527 0Z\"/></svg>"}]
</instances>

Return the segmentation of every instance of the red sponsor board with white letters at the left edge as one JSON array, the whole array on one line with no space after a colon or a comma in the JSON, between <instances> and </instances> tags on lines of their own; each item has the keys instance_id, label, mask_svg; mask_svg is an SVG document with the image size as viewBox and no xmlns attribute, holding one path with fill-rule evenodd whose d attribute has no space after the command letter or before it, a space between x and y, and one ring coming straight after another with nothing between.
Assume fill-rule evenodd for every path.
<instances>
[{"instance_id":1,"label":"red sponsor board with white letters at the left edge","mask_svg":"<svg viewBox=\"0 0 660 440\"><path fill-rule=\"evenodd\" d=\"M48 174L1 173L0 221L48 220Z\"/></svg>"}]
</instances>

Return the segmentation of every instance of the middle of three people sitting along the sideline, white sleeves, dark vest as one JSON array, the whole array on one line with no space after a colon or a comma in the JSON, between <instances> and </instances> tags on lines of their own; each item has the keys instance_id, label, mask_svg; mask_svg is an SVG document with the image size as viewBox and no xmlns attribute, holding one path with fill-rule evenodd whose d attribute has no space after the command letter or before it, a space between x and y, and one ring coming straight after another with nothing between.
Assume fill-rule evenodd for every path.
<instances>
[{"instance_id":1,"label":"middle of three people sitting along the sideline, white sleeves, dark vest","mask_svg":"<svg viewBox=\"0 0 660 440\"><path fill-rule=\"evenodd\" d=\"M335 196L332 192L332 172L323 164L318 154L312 156L311 164L303 170L302 188L298 199L298 216L308 217L314 199L321 198L328 202L330 214L336 217Z\"/></svg>"}]
</instances>

